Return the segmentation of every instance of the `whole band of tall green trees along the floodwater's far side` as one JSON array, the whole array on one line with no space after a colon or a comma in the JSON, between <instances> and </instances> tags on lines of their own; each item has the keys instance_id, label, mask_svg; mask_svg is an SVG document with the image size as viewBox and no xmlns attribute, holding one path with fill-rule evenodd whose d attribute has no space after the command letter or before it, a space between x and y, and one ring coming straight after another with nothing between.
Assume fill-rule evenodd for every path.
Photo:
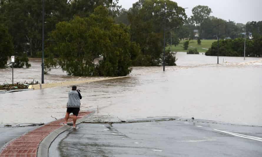
<instances>
[{"instance_id":1,"label":"whole band of tall green trees along the floodwater's far side","mask_svg":"<svg viewBox=\"0 0 262 157\"><path fill-rule=\"evenodd\" d=\"M162 65L165 9L175 10L165 14L165 45L195 38L194 30L201 39L214 39L214 25L225 22L210 16L208 6L195 6L187 17L171 0L137 0L128 10L118 1L45 0L44 37L50 40L44 43L45 69L60 66L75 76L123 76L131 66ZM249 22L247 32L260 36L261 23ZM220 37L241 37L243 28L238 23L223 25ZM0 0L0 54L0 68L12 55L17 56L15 67L30 67L28 57L42 57L42 1ZM169 49L165 61L175 65Z\"/></svg>"}]
</instances>

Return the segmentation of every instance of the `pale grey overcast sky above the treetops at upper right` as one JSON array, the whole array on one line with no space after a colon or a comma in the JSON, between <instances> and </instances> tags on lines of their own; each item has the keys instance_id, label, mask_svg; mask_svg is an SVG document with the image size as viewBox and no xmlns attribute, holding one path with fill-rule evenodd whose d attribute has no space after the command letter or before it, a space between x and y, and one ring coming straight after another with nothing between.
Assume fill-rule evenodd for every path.
<instances>
[{"instance_id":1,"label":"pale grey overcast sky above the treetops at upper right","mask_svg":"<svg viewBox=\"0 0 262 157\"><path fill-rule=\"evenodd\" d=\"M129 9L138 0L119 0L122 8ZM186 9L188 16L197 5L209 6L211 16L246 24L248 21L262 21L262 0L173 0Z\"/></svg>"}]
</instances>

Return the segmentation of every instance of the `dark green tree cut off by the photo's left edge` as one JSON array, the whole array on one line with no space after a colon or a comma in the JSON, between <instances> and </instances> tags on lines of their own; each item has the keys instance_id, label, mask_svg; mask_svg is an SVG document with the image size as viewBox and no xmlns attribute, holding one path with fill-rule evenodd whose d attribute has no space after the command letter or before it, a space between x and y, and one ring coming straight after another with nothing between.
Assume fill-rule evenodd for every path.
<instances>
[{"instance_id":1,"label":"dark green tree cut off by the photo's left edge","mask_svg":"<svg viewBox=\"0 0 262 157\"><path fill-rule=\"evenodd\" d=\"M14 55L14 45L7 28L0 24L0 68L6 67L8 58Z\"/></svg>"}]
</instances>

